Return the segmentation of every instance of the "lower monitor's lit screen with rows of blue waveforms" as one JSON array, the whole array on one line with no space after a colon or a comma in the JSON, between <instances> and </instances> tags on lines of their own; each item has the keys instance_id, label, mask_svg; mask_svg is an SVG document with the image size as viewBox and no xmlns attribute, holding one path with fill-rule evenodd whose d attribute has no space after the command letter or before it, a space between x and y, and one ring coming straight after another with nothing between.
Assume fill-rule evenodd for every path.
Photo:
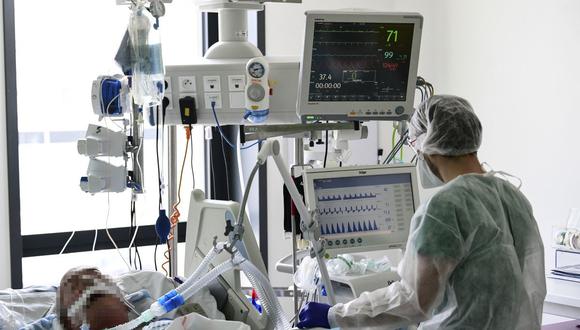
<instances>
[{"instance_id":1,"label":"lower monitor's lit screen with rows of blue waveforms","mask_svg":"<svg viewBox=\"0 0 580 330\"><path fill-rule=\"evenodd\" d=\"M321 234L407 234L415 212L410 173L313 180Z\"/></svg>"}]
</instances>

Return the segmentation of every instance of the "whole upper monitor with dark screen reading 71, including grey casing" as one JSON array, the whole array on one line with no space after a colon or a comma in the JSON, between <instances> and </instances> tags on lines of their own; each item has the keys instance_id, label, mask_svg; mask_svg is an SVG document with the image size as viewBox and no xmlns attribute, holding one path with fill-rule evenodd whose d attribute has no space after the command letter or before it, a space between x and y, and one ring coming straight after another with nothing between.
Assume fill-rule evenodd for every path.
<instances>
[{"instance_id":1,"label":"whole upper monitor with dark screen reading 71, including grey casing","mask_svg":"<svg viewBox=\"0 0 580 330\"><path fill-rule=\"evenodd\" d=\"M307 12L301 120L409 119L422 25L419 14Z\"/></svg>"}]
</instances>

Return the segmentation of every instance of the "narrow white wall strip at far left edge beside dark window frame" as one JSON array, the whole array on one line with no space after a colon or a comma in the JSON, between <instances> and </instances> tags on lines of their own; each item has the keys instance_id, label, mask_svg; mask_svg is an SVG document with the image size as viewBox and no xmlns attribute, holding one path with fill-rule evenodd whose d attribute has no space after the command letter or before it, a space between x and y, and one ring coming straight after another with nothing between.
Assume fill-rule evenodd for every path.
<instances>
[{"instance_id":1,"label":"narrow white wall strip at far left edge beside dark window frame","mask_svg":"<svg viewBox=\"0 0 580 330\"><path fill-rule=\"evenodd\" d=\"M0 7L0 289L10 287L10 227L6 163L6 95L4 80L4 15Z\"/></svg>"}]
</instances>

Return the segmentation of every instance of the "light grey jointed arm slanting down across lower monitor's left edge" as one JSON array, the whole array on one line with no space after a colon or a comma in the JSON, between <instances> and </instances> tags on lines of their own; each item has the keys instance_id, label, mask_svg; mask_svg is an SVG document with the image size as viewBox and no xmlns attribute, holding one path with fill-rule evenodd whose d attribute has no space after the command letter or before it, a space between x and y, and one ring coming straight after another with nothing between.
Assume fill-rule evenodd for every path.
<instances>
[{"instance_id":1,"label":"light grey jointed arm slanting down across lower monitor's left edge","mask_svg":"<svg viewBox=\"0 0 580 330\"><path fill-rule=\"evenodd\" d=\"M290 197L300 214L300 227L304 234L304 238L310 242L310 255L313 258L316 257L316 260L318 261L318 267L320 269L320 274L322 275L322 281L328 295L328 300L331 305L334 305L336 304L334 290L332 288L332 283L330 282L326 263L324 262L324 244L320 240L318 222L313 220L315 212L308 211L306 205L304 205L302 196L298 192L294 180L292 180L292 177L290 176L288 166L280 155L280 143L277 140L269 140L262 146L258 153L258 163L264 164L269 156L274 158L274 162L278 167L278 171L282 175L284 184L286 184L286 188L288 188L288 191L290 192Z\"/></svg>"}]
</instances>

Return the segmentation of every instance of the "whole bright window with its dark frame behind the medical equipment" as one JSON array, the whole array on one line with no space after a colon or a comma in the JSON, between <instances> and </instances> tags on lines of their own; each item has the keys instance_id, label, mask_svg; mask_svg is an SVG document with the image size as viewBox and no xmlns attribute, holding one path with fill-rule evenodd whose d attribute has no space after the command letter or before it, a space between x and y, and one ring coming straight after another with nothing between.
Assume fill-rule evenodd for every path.
<instances>
[{"instance_id":1,"label":"whole bright window with its dark frame behind the medical equipment","mask_svg":"<svg viewBox=\"0 0 580 330\"><path fill-rule=\"evenodd\" d=\"M217 15L200 14L192 1L173 2L166 8L160 21L164 64L195 62L202 48L217 41ZM129 258L127 250L130 193L91 196L81 192L79 180L85 175L88 158L78 155L76 141L85 135L89 123L97 122L90 103L92 81L99 75L120 72L113 58L129 10L113 0L88 0L82 5L73 0L42 2L34 10L21 1L4 0L4 9L12 287L57 284L74 265L96 265L113 275L124 272L125 263L135 261L135 254ZM264 14L250 13L249 28L250 40L264 49ZM110 121L100 124L113 129L118 125ZM234 131L224 129L228 134ZM136 205L140 228L135 242L140 246L143 268L153 269L158 216L155 127L146 126L144 135L145 194L139 195ZM177 128L178 166L185 151L184 136L183 129ZM234 152L228 148L224 152L220 139L204 141L204 127L194 128L192 141L195 188L213 188L215 198L226 198L231 192L233 199L239 199L237 175L226 178L221 172L223 162L230 173L237 172ZM166 169L167 141L162 145L165 160L161 165ZM242 163L248 159L255 155L243 155ZM185 239L184 222L194 185L189 160L186 163L179 242ZM212 174L207 179L206 172ZM267 215L258 211L267 207L265 172L260 177L260 199L253 195L249 206L256 238L266 243L262 253L267 260ZM164 206L167 208L166 198ZM119 251L113 249L106 227ZM65 253L59 255L67 241ZM180 243L178 251L184 248ZM164 252L165 247L159 245L155 259L159 268ZM178 252L178 257L182 272L184 253Z\"/></svg>"}]
</instances>

